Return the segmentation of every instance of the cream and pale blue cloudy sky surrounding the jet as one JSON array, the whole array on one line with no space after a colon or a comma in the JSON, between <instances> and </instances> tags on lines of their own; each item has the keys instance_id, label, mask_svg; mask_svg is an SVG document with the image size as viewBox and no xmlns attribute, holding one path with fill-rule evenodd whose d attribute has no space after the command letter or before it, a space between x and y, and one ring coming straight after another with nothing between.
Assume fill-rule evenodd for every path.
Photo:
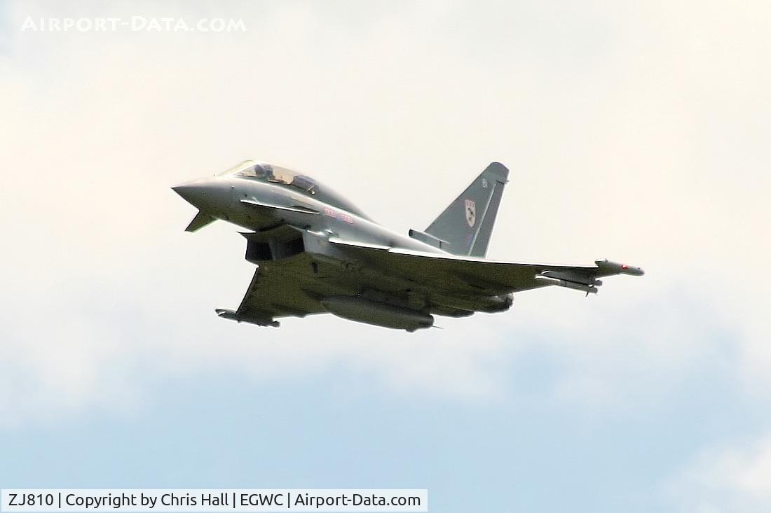
<instances>
[{"instance_id":1,"label":"cream and pale blue cloudy sky surrounding the jet","mask_svg":"<svg viewBox=\"0 0 771 513\"><path fill-rule=\"evenodd\" d=\"M771 8L507 4L0 4L0 485L769 511ZM132 16L245 31L39 29ZM489 257L647 274L416 334L227 322L244 241L169 187L247 158L402 232L497 160Z\"/></svg>"}]
</instances>

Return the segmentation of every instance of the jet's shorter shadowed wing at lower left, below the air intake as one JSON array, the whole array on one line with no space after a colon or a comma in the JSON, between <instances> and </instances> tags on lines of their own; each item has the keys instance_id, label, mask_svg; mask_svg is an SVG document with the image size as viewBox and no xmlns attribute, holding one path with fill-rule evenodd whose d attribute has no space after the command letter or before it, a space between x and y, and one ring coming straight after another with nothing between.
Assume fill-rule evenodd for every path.
<instances>
[{"instance_id":1,"label":"jet's shorter shadowed wing at lower left, below the air intake","mask_svg":"<svg viewBox=\"0 0 771 513\"><path fill-rule=\"evenodd\" d=\"M281 266L270 263L259 266L238 309L217 309L217 315L260 326L278 326L277 317L305 317L324 312L318 297L308 293L304 285L303 277L310 263L308 253L302 253Z\"/></svg>"}]
</instances>

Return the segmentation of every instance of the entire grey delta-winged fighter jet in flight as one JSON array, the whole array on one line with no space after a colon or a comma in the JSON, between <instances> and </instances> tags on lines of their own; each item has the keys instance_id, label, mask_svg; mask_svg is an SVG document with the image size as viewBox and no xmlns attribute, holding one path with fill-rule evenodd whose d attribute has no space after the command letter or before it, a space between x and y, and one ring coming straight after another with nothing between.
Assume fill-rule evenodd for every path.
<instances>
[{"instance_id":1,"label":"entire grey delta-winged fighter jet in flight","mask_svg":"<svg viewBox=\"0 0 771 513\"><path fill-rule=\"evenodd\" d=\"M214 220L245 232L254 277L225 319L278 327L281 317L334 314L409 332L434 316L502 312L513 294L540 287L597 293L599 278L641 276L639 267L486 260L509 171L491 163L426 230L407 236L375 223L318 180L246 160L217 176L172 187L199 212L187 226Z\"/></svg>"}]
</instances>

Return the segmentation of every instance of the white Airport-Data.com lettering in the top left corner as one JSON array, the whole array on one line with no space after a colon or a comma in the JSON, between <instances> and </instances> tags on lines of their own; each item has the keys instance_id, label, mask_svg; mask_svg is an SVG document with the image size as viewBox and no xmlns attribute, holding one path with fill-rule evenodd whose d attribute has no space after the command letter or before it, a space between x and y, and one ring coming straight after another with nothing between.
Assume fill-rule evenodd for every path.
<instances>
[{"instance_id":1,"label":"white Airport-Data.com lettering in the top left corner","mask_svg":"<svg viewBox=\"0 0 771 513\"><path fill-rule=\"evenodd\" d=\"M246 32L241 18L33 18L27 16L22 32Z\"/></svg>"}]
</instances>

